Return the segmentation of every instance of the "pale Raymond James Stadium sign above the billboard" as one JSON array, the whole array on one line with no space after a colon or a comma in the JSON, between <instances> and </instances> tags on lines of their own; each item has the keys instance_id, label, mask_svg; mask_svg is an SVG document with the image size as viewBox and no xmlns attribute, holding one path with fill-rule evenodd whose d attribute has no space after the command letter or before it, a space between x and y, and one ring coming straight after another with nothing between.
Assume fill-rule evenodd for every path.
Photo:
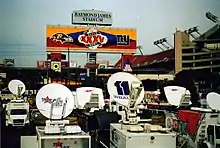
<instances>
[{"instance_id":1,"label":"pale Raymond James Stadium sign above the billboard","mask_svg":"<svg viewBox=\"0 0 220 148\"><path fill-rule=\"evenodd\" d=\"M112 13L99 10L73 11L72 23L79 25L112 25Z\"/></svg>"}]
</instances>

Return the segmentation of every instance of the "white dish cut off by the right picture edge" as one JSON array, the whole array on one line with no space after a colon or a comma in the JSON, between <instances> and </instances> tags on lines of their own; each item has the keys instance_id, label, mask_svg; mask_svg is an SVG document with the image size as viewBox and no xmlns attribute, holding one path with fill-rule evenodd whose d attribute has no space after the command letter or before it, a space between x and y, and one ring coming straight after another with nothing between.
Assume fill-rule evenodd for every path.
<instances>
[{"instance_id":1,"label":"white dish cut off by the right picture edge","mask_svg":"<svg viewBox=\"0 0 220 148\"><path fill-rule=\"evenodd\" d=\"M210 92L206 99L211 109L220 111L220 95L218 93Z\"/></svg>"}]
</instances>

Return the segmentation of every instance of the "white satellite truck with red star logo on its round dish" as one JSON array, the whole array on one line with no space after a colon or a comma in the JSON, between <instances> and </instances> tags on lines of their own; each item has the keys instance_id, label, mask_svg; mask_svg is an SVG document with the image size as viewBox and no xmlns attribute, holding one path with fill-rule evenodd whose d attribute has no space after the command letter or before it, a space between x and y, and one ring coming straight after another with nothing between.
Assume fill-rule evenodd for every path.
<instances>
[{"instance_id":1,"label":"white satellite truck with red star logo on its round dish","mask_svg":"<svg viewBox=\"0 0 220 148\"><path fill-rule=\"evenodd\" d=\"M56 90L56 91L54 91ZM70 125L68 117L76 108L72 92L62 84L51 83L37 93L36 105L45 116L45 126L36 127L36 136L22 136L21 148L91 148L91 137L78 125Z\"/></svg>"}]
</instances>

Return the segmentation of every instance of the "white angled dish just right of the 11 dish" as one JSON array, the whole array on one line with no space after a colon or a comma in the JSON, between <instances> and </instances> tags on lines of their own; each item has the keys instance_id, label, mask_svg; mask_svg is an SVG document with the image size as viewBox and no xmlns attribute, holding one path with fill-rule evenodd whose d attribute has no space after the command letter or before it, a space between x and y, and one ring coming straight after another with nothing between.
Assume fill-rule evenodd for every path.
<instances>
[{"instance_id":1,"label":"white angled dish just right of the 11 dish","mask_svg":"<svg viewBox=\"0 0 220 148\"><path fill-rule=\"evenodd\" d=\"M179 106L183 95L186 94L186 88L180 86L166 86L164 87L164 92L168 103Z\"/></svg>"}]
</instances>

